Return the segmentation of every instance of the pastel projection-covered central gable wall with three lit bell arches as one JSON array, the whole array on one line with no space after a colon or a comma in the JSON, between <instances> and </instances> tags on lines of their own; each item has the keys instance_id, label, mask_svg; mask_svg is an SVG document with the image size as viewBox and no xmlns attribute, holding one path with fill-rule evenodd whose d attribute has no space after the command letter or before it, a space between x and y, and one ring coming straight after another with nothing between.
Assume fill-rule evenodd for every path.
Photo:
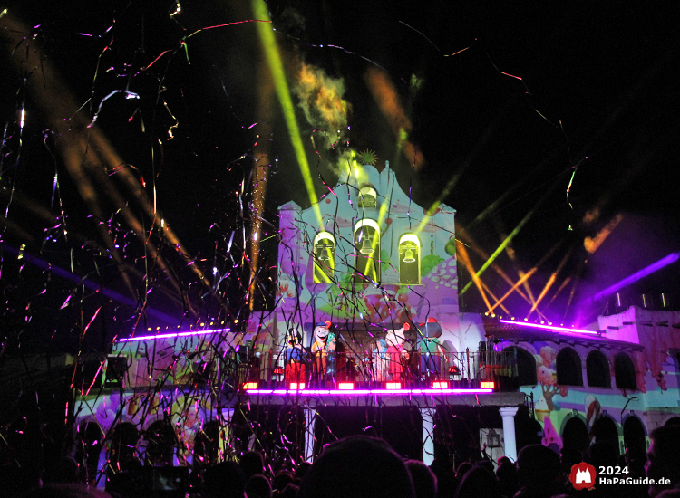
<instances>
[{"instance_id":1,"label":"pastel projection-covered central gable wall with three lit bell arches","mask_svg":"<svg viewBox=\"0 0 680 498\"><path fill-rule=\"evenodd\" d=\"M372 198L364 202L366 192L375 196L373 204ZM453 350L468 346L461 344L457 316L455 211L451 207L440 205L428 211L415 205L388 164L381 171L354 165L317 205L303 210L288 203L279 213L279 335L291 324L303 324L309 346L310 324L317 321L332 321L341 329L393 330L434 316L442 323L442 339L449 340ZM357 232L363 220L374 225ZM317 244L322 233L327 240ZM364 240L362 234L367 234ZM374 258L379 271L357 278L367 268L357 263L362 258ZM483 340L479 325L470 335L473 350ZM470 328L469 323L465 326ZM277 342L282 340L277 338Z\"/></svg>"}]
</instances>

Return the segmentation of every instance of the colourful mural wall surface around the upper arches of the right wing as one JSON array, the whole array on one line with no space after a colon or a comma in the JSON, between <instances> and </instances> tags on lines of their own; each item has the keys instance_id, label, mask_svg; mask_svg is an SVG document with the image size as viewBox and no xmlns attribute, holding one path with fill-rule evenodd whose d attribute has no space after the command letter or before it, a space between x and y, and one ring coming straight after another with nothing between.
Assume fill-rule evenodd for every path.
<instances>
[{"instance_id":1,"label":"colourful mural wall surface around the upper arches of the right wing","mask_svg":"<svg viewBox=\"0 0 680 498\"><path fill-rule=\"evenodd\" d=\"M612 443L624 451L624 425L636 418L645 434L634 439L643 444L645 436L670 417L680 414L677 355L680 352L678 311L648 311L636 307L618 315L600 317L599 328L607 330L597 342L570 336L563 340L520 342L536 362L535 386L521 388L532 396L536 419L543 428L542 443L559 449L564 443L568 422L578 419L583 432L592 443L601 437L603 426L609 426ZM611 327L610 327L611 326ZM500 349L513 344L501 342ZM644 347L644 350L641 348ZM573 349L581 361L582 385L564 386L558 382L557 357L562 348ZM590 386L588 382L588 354L597 350L607 361L610 385ZM630 359L630 369L617 372L617 356ZM606 374L605 374L606 375ZM617 378L621 375L621 378ZM624 380L622 380L622 378ZM626 379L633 378L633 385ZM595 381L595 380L594 380ZM607 378L604 380L607 384ZM616 429L611 429L616 427ZM633 436L631 436L633 437ZM640 439L641 438L641 439ZM573 444L573 442L572 442Z\"/></svg>"}]
</instances>

